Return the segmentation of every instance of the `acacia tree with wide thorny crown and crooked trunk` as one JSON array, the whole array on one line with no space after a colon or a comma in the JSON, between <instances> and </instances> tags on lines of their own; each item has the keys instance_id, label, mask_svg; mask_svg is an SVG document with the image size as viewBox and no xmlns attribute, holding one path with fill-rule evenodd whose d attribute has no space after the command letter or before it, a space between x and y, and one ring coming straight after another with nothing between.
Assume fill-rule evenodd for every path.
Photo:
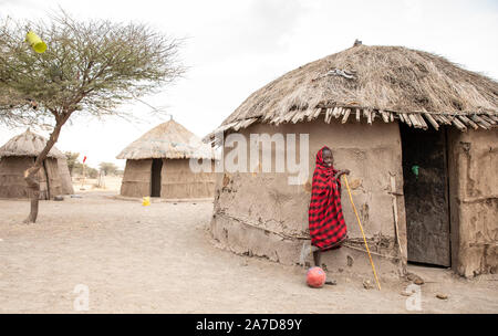
<instances>
[{"instance_id":1,"label":"acacia tree with wide thorny crown and crooked trunk","mask_svg":"<svg viewBox=\"0 0 498 336\"><path fill-rule=\"evenodd\" d=\"M46 43L44 53L24 42L28 29ZM184 72L179 44L145 24L77 21L63 11L49 22L0 22L0 123L52 126L46 146L24 172L31 199L25 222L37 220L38 171L69 118L122 116L120 104L172 83Z\"/></svg>"}]
</instances>

